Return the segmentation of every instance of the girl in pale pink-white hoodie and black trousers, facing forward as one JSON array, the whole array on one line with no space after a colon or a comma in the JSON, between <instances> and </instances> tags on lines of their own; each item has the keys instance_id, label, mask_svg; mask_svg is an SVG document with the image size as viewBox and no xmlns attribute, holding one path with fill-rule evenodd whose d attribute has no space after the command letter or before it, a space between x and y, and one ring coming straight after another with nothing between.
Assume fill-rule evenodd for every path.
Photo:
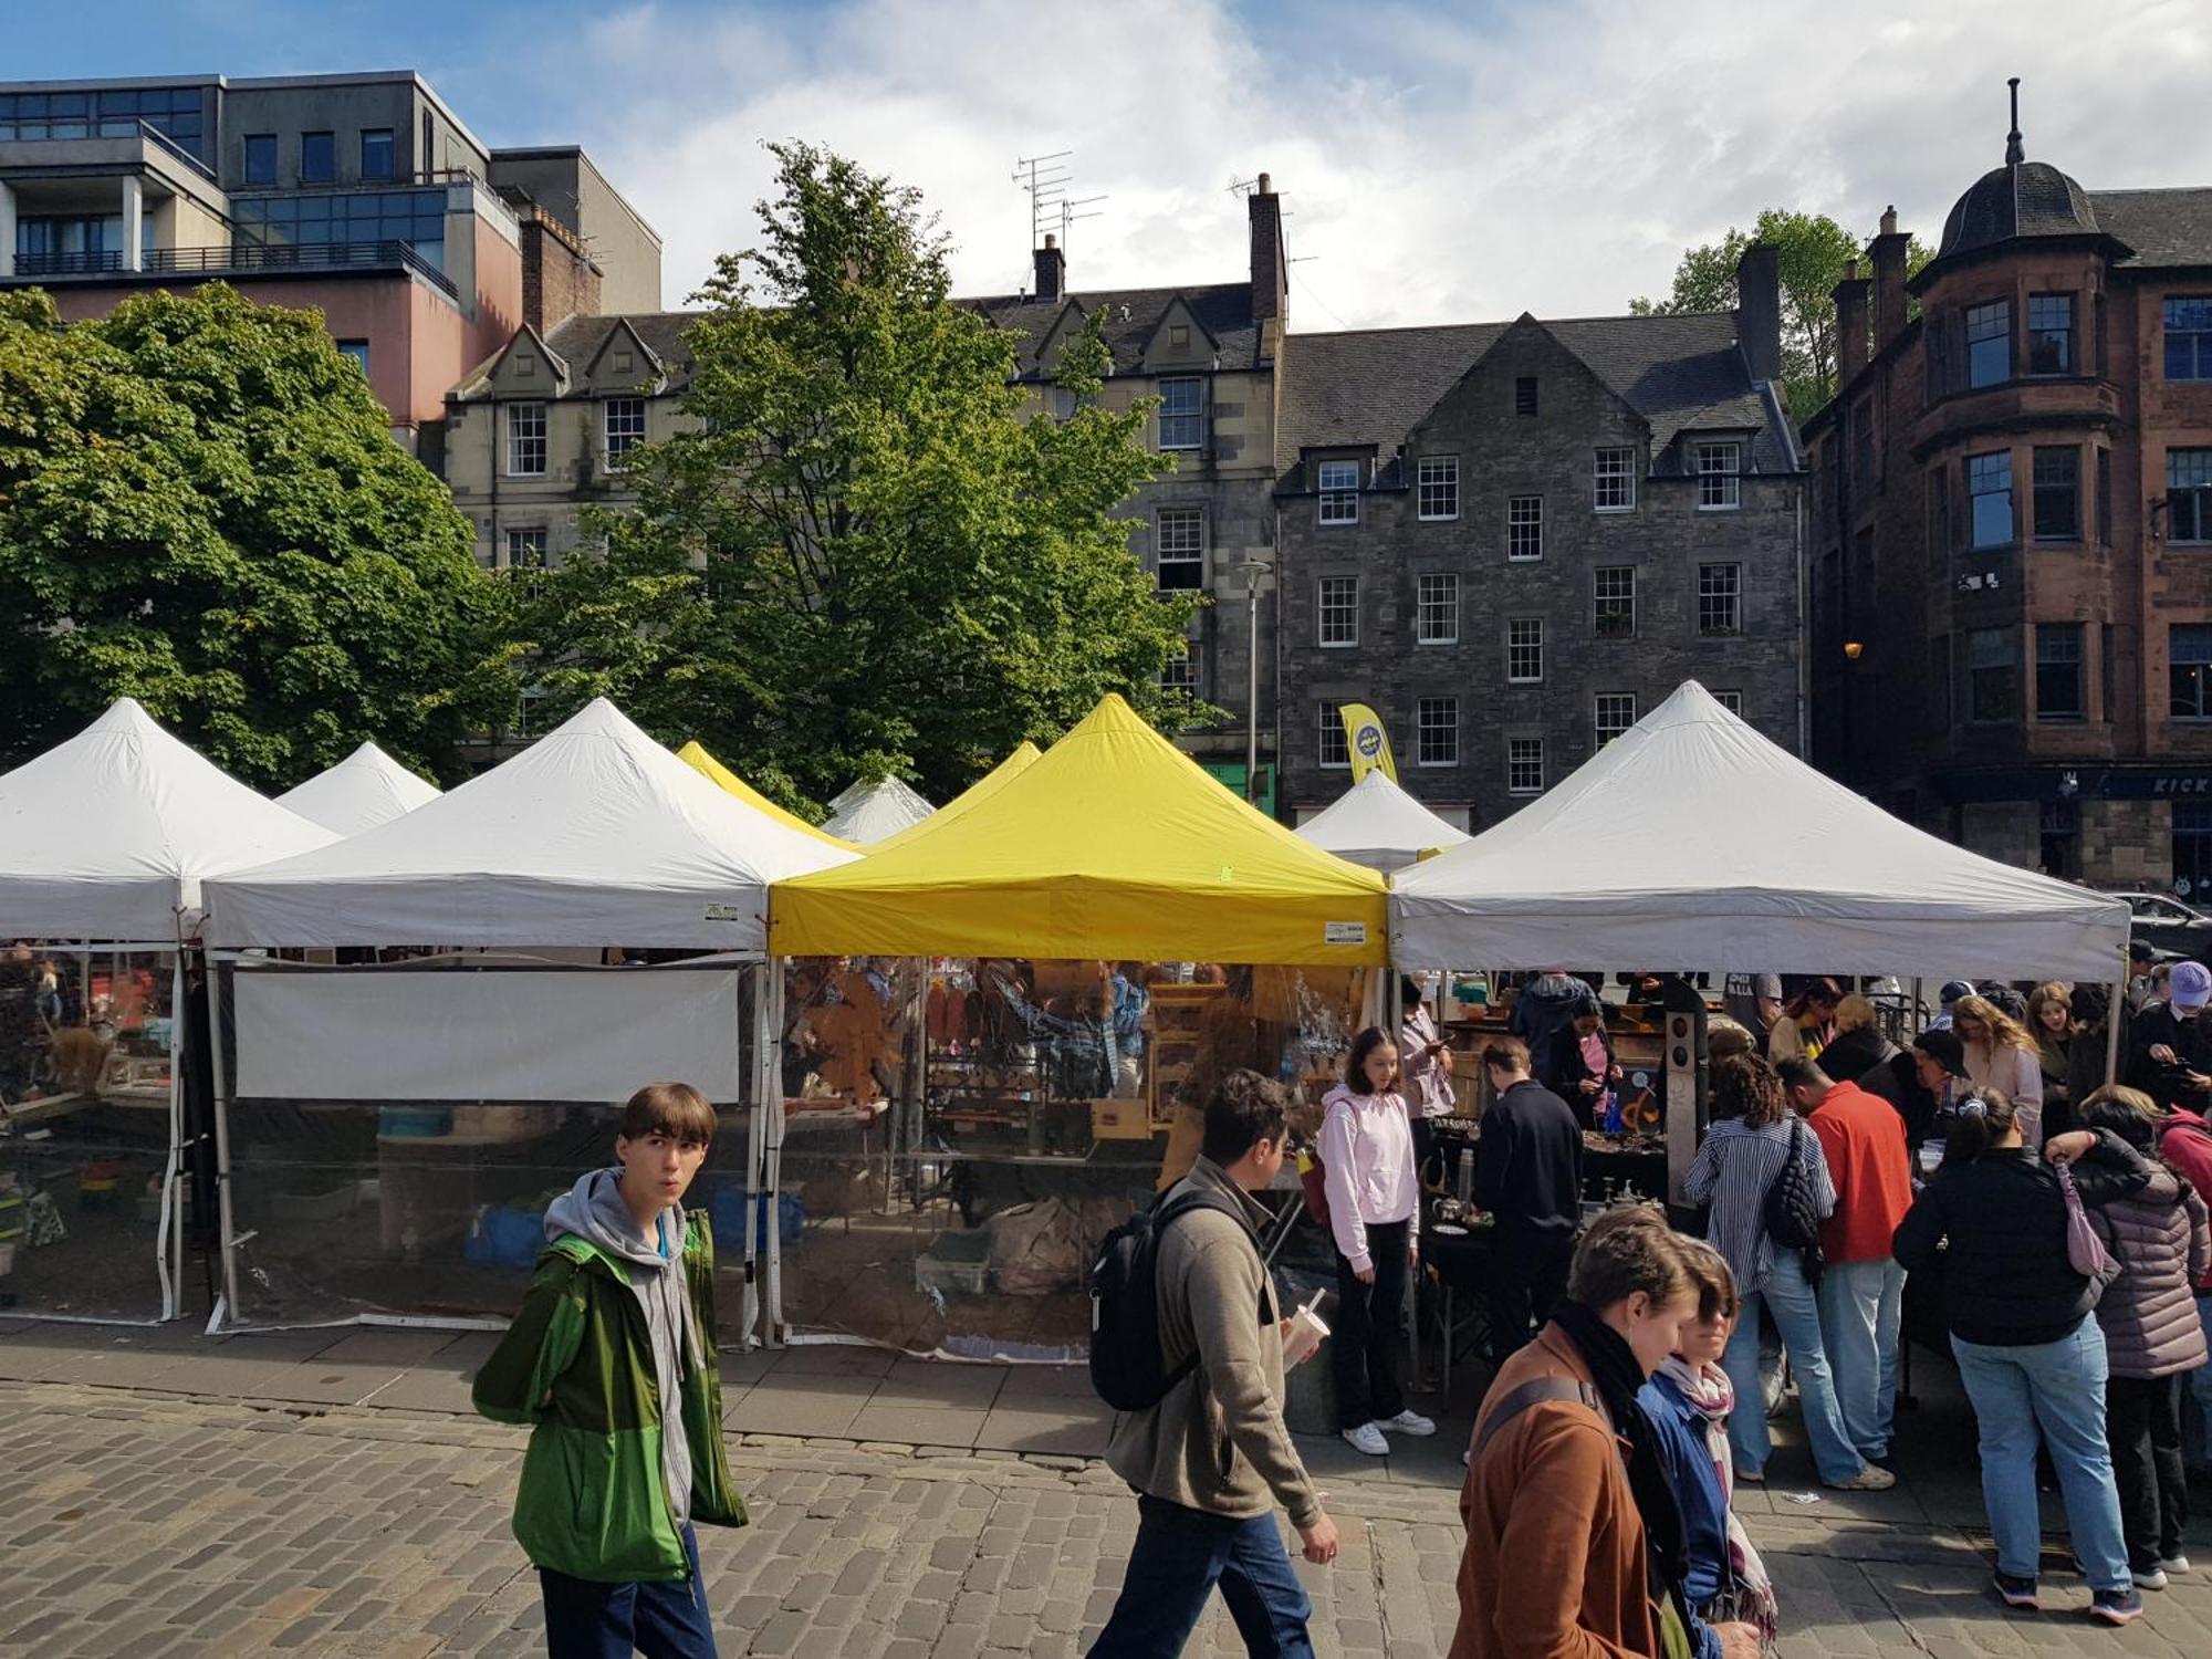
<instances>
[{"instance_id":1,"label":"girl in pale pink-white hoodie and black trousers, facing forward","mask_svg":"<svg viewBox=\"0 0 2212 1659\"><path fill-rule=\"evenodd\" d=\"M1407 1272L1420 1256L1420 1179L1413 1128L1398 1093L1398 1048L1380 1026L1352 1040L1345 1082L1321 1119L1321 1170L1336 1237L1336 1427L1369 1458L1389 1451L1385 1429L1436 1433L1411 1411L1398 1380L1398 1316Z\"/></svg>"}]
</instances>

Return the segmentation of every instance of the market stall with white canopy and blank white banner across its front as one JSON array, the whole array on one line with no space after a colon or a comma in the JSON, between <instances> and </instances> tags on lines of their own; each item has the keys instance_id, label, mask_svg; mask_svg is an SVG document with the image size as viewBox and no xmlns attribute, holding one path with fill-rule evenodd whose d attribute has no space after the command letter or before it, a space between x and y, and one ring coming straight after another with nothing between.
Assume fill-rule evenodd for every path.
<instances>
[{"instance_id":1,"label":"market stall with white canopy and blank white banner across its front","mask_svg":"<svg viewBox=\"0 0 2212 1659\"><path fill-rule=\"evenodd\" d=\"M595 701L403 818L210 883L230 1318L511 1312L546 1197L613 1159L639 1084L681 1077L721 1115L695 1201L734 1336L768 1194L768 883L849 858ZM385 960L248 956L288 947Z\"/></svg>"}]
</instances>

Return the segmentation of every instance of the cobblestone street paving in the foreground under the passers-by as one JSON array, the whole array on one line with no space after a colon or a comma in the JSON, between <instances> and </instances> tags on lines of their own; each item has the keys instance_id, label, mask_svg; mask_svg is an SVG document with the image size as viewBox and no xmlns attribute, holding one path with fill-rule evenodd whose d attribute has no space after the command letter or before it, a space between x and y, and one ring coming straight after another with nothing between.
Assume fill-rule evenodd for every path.
<instances>
[{"instance_id":1,"label":"cobblestone street paving in the foreground under the passers-by","mask_svg":"<svg viewBox=\"0 0 2212 1659\"><path fill-rule=\"evenodd\" d=\"M0 1380L0 1652L540 1652L538 1586L507 1535L520 1449L522 1431L451 1411ZM1301 1566L1318 1650L1440 1655L1455 1491L1312 1449L1345 1533L1334 1568ZM1128 1493L1079 1455L774 1433L732 1433L730 1455L754 1524L701 1528L701 1557L732 1659L1075 1655L1135 1531ZM2004 1615L1971 1486L1798 1498L1747 1495L1783 1659L2212 1655L2212 1571L2121 1632L2090 1626L2057 1571L2048 1613ZM1219 1604L1190 1652L1241 1652Z\"/></svg>"}]
</instances>

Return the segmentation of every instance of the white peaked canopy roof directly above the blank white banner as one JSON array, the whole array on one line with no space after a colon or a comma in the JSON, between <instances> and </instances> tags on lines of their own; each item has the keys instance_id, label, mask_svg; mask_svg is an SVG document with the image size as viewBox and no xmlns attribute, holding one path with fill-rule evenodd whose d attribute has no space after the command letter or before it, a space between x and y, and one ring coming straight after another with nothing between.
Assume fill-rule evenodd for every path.
<instances>
[{"instance_id":1,"label":"white peaked canopy roof directly above the blank white banner","mask_svg":"<svg viewBox=\"0 0 2212 1659\"><path fill-rule=\"evenodd\" d=\"M719 790L597 699L405 816L210 883L208 936L759 956L768 885L852 856Z\"/></svg>"}]
</instances>

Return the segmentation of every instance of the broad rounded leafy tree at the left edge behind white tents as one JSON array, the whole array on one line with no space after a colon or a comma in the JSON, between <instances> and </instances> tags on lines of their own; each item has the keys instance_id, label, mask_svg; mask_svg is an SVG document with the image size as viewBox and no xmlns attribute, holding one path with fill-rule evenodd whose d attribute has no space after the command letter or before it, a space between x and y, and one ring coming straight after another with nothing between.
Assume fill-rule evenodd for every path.
<instances>
[{"instance_id":1,"label":"broad rounded leafy tree at the left edge behind white tents","mask_svg":"<svg viewBox=\"0 0 2212 1659\"><path fill-rule=\"evenodd\" d=\"M504 591L314 312L221 283L60 327L0 294L0 745L137 697L259 787L502 723Z\"/></svg>"}]
</instances>

